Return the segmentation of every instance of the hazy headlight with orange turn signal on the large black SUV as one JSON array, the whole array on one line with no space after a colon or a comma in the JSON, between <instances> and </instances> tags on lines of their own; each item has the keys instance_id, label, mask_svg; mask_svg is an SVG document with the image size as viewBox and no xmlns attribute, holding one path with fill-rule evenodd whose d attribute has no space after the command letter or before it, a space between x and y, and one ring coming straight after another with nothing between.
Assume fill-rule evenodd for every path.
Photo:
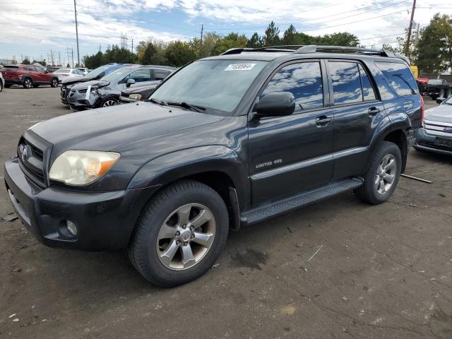
<instances>
[{"instance_id":1,"label":"hazy headlight with orange turn signal on the large black SUV","mask_svg":"<svg viewBox=\"0 0 452 339\"><path fill-rule=\"evenodd\" d=\"M119 159L119 153L66 150L50 168L49 178L66 185L83 186L99 179Z\"/></svg>"}]
</instances>

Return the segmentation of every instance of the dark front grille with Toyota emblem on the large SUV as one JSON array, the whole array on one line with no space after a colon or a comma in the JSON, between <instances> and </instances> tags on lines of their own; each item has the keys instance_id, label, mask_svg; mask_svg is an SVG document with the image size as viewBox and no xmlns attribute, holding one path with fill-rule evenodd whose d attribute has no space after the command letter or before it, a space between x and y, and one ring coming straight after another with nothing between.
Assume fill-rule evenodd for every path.
<instances>
[{"instance_id":1,"label":"dark front grille with Toyota emblem on the large SUV","mask_svg":"<svg viewBox=\"0 0 452 339\"><path fill-rule=\"evenodd\" d=\"M35 184L45 187L44 153L25 138L19 141L17 155L19 165L25 175Z\"/></svg>"}]
</instances>

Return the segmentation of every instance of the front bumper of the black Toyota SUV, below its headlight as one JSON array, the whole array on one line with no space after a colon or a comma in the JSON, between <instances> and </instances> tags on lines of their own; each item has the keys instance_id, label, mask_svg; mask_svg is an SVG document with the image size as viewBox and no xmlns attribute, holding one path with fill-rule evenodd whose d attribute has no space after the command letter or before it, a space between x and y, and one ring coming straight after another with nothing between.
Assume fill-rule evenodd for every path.
<instances>
[{"instance_id":1,"label":"front bumper of the black Toyota SUV, below its headlight","mask_svg":"<svg viewBox=\"0 0 452 339\"><path fill-rule=\"evenodd\" d=\"M5 163L5 183L16 214L42 244L73 249L123 249L138 215L157 187L110 192L42 189L25 177L18 158ZM66 220L78 232L71 236Z\"/></svg>"}]
</instances>

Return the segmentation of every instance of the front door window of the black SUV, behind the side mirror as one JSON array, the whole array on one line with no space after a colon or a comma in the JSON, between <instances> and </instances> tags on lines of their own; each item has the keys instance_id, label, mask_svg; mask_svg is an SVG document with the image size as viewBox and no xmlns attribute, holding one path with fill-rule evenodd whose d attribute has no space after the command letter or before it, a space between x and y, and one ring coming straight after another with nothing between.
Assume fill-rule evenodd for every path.
<instances>
[{"instance_id":1,"label":"front door window of the black SUV, behind the side mirror","mask_svg":"<svg viewBox=\"0 0 452 339\"><path fill-rule=\"evenodd\" d=\"M297 107L295 112L323 107L323 85L319 62L302 62L283 67L263 90L261 97L273 92L290 92Z\"/></svg>"}]
</instances>

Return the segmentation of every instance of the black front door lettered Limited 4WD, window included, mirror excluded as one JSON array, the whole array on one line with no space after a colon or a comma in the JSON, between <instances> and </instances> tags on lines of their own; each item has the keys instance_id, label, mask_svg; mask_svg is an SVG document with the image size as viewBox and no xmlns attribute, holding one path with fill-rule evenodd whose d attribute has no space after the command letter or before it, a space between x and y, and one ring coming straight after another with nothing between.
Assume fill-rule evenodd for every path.
<instances>
[{"instance_id":1,"label":"black front door lettered Limited 4WD, window included, mirror excluded","mask_svg":"<svg viewBox=\"0 0 452 339\"><path fill-rule=\"evenodd\" d=\"M264 85L295 96L295 112L249 122L249 174L252 204L276 201L326 184L333 172L333 111L323 61L285 64Z\"/></svg>"}]
</instances>

